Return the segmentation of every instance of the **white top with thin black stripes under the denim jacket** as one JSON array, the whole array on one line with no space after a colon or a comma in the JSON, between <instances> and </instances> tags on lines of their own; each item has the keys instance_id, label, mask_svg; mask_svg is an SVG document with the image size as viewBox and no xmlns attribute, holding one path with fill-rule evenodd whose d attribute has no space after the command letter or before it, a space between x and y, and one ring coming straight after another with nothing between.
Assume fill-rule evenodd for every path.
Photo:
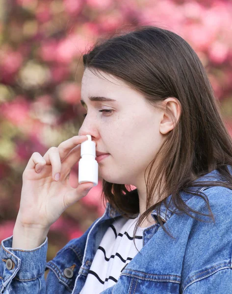
<instances>
[{"instance_id":1,"label":"white top with thin black stripes under the denim jacket","mask_svg":"<svg viewBox=\"0 0 232 294\"><path fill-rule=\"evenodd\" d=\"M143 247L143 230L139 227L133 242L136 219L120 218L106 230L94 256L85 284L80 294L99 294L115 285L121 270Z\"/></svg>"}]
</instances>

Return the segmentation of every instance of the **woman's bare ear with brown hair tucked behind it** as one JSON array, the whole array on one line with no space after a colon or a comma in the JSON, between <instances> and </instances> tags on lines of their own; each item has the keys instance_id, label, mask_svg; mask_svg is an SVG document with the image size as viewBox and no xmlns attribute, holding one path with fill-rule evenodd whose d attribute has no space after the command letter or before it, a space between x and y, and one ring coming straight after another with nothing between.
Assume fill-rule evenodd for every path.
<instances>
[{"instance_id":1,"label":"woman's bare ear with brown hair tucked behind it","mask_svg":"<svg viewBox=\"0 0 232 294\"><path fill-rule=\"evenodd\" d=\"M169 97L162 101L163 112L161 121L159 124L159 131L161 134L165 135L171 130L174 129L176 123L180 118L181 113L181 105L180 101L177 98ZM170 112L173 114L175 120L172 120L172 116Z\"/></svg>"}]
</instances>

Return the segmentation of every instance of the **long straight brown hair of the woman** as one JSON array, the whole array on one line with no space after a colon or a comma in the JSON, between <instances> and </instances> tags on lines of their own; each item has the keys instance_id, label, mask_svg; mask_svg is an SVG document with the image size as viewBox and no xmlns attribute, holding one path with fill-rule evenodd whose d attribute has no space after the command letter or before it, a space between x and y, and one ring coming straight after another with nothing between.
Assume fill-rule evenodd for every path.
<instances>
[{"instance_id":1,"label":"long straight brown hair of the woman","mask_svg":"<svg viewBox=\"0 0 232 294\"><path fill-rule=\"evenodd\" d=\"M144 175L147 187L146 211L139 216L133 237L138 226L154 209L157 221L170 236L159 210L162 202L166 208L169 207L166 198L170 195L180 212L196 219L189 214L191 211L211 217L214 221L207 196L203 192L189 191L188 188L204 185L232 189L232 176L227 167L232 165L232 139L223 122L219 102L206 71L191 46L172 31L140 25L129 32L98 39L83 55L83 64L84 69L93 69L95 73L100 70L123 80L142 93L154 107L160 107L159 102L168 97L177 98L181 105L179 121L166 135L149 164L148 177ZM158 164L155 162L157 156ZM155 163L157 166L152 171ZM193 183L213 170L217 170L226 182ZM165 187L161 190L162 178L165 179ZM159 201L152 205L156 189ZM139 199L125 197L130 191L129 185L110 183L103 179L103 199L126 218L139 214ZM181 199L180 191L202 197L210 214L202 214L187 206Z\"/></svg>"}]
</instances>

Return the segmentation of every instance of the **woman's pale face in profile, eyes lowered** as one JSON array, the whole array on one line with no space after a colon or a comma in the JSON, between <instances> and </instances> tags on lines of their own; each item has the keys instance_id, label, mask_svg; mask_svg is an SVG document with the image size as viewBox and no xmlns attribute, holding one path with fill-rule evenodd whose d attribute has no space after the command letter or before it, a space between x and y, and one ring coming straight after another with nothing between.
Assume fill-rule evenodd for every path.
<instances>
[{"instance_id":1,"label":"woman's pale face in profile, eyes lowered","mask_svg":"<svg viewBox=\"0 0 232 294\"><path fill-rule=\"evenodd\" d=\"M163 113L120 79L100 73L103 77L84 71L81 99L87 116L78 135L91 135L96 150L110 154L99 162L104 180L137 187L144 183L145 170L164 140L159 130ZM91 97L115 101L91 101Z\"/></svg>"}]
</instances>

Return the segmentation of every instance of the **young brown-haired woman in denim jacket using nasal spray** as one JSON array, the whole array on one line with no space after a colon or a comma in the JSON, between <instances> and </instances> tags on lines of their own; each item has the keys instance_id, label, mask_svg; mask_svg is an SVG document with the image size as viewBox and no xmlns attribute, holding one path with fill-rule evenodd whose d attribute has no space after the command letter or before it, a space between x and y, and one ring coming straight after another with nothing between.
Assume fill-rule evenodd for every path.
<instances>
[{"instance_id":1,"label":"young brown-haired woman in denim jacket using nasal spray","mask_svg":"<svg viewBox=\"0 0 232 294\"><path fill-rule=\"evenodd\" d=\"M85 120L28 161L0 293L231 294L232 140L197 54L140 26L99 40L83 63ZM106 209L46 264L50 226L93 186L69 185L87 134Z\"/></svg>"}]
</instances>

